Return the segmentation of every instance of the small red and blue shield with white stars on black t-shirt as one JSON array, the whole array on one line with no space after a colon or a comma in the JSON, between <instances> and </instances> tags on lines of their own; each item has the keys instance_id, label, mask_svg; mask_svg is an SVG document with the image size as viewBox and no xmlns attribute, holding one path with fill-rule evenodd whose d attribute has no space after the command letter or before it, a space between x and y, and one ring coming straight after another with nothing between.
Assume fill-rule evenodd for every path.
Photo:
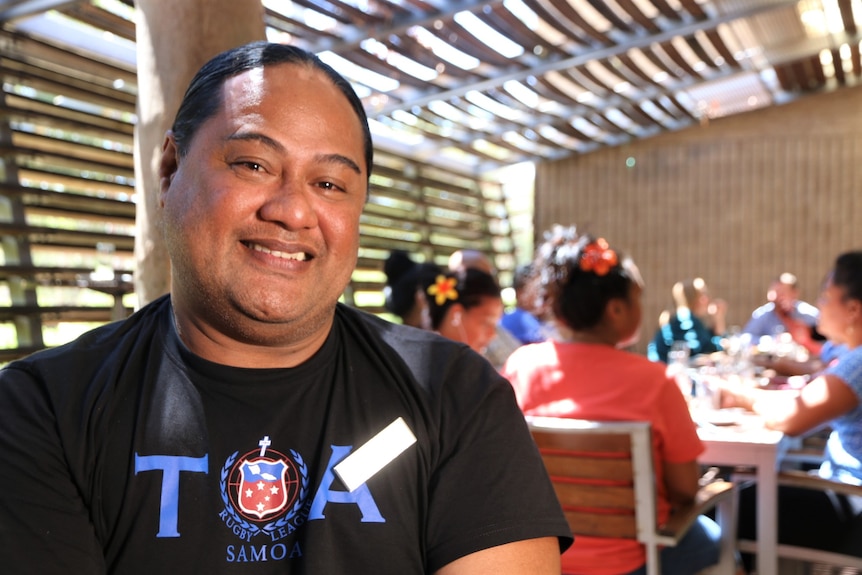
<instances>
[{"instance_id":1,"label":"small red and blue shield with white stars on black t-shirt","mask_svg":"<svg viewBox=\"0 0 862 575\"><path fill-rule=\"evenodd\" d=\"M236 498L240 509L260 519L281 511L287 504L286 469L284 461L266 457L243 461Z\"/></svg>"}]
</instances>

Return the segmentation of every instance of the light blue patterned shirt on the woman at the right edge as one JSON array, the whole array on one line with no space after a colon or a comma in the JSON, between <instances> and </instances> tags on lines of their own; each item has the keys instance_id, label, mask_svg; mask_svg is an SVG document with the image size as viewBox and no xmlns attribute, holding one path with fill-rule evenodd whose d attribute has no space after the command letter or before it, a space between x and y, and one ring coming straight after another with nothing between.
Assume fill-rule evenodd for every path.
<instances>
[{"instance_id":1,"label":"light blue patterned shirt on the woman at the right edge","mask_svg":"<svg viewBox=\"0 0 862 575\"><path fill-rule=\"evenodd\" d=\"M834 375L847 384L859 400L859 405L830 421L832 433L826 443L826 462L820 475L844 483L862 484L862 347L841 354L826 374Z\"/></svg>"}]
</instances>

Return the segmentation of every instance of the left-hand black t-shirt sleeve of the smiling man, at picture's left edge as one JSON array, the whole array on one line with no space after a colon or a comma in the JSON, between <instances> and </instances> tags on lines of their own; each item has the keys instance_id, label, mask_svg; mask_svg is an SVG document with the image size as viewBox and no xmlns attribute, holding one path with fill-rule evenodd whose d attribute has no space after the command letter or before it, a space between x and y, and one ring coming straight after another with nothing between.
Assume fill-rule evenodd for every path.
<instances>
[{"instance_id":1,"label":"left-hand black t-shirt sleeve of the smiling man, at picture's left edge","mask_svg":"<svg viewBox=\"0 0 862 575\"><path fill-rule=\"evenodd\" d=\"M105 573L44 386L0 370L0 565L9 575Z\"/></svg>"}]
</instances>

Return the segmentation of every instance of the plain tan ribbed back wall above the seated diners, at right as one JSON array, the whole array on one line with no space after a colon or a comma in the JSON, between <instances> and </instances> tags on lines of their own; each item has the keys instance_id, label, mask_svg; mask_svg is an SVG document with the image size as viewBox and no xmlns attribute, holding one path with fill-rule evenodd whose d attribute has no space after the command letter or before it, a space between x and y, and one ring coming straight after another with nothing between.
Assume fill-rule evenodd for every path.
<instances>
[{"instance_id":1,"label":"plain tan ribbed back wall above the seated diners, at right","mask_svg":"<svg viewBox=\"0 0 862 575\"><path fill-rule=\"evenodd\" d=\"M835 256L862 249L860 109L862 88L848 88L542 164L536 233L576 224L632 255L646 282L641 352L687 277L727 300L729 326L782 271L815 303Z\"/></svg>"}]
</instances>

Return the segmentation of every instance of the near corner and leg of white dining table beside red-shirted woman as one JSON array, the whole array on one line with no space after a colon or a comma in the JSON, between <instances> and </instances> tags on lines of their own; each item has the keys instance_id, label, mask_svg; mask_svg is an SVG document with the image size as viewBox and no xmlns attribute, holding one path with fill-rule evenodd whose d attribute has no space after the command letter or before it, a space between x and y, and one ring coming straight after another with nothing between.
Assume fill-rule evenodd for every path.
<instances>
[{"instance_id":1,"label":"near corner and leg of white dining table beside red-shirted woman","mask_svg":"<svg viewBox=\"0 0 862 575\"><path fill-rule=\"evenodd\" d=\"M706 447L698 458L700 463L746 468L754 474L758 485L753 549L757 574L778 575L778 471L794 438L767 429L760 416L739 408L701 407L692 410L692 418Z\"/></svg>"}]
</instances>

